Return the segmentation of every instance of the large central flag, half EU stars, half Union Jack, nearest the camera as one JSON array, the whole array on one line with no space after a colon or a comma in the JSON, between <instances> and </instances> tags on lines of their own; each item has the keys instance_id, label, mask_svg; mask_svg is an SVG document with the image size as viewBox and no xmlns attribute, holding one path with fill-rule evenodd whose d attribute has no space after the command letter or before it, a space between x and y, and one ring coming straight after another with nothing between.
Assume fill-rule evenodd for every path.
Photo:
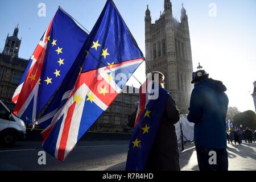
<instances>
[{"instance_id":1,"label":"large central flag, half EU stars, half Union Jack, nearest the camera","mask_svg":"<svg viewBox=\"0 0 256 182\"><path fill-rule=\"evenodd\" d=\"M113 1L108 0L77 59L84 65L67 101L42 132L43 148L63 161L79 139L115 100L144 61ZM64 97L64 95L63 95Z\"/></svg>"}]
</instances>

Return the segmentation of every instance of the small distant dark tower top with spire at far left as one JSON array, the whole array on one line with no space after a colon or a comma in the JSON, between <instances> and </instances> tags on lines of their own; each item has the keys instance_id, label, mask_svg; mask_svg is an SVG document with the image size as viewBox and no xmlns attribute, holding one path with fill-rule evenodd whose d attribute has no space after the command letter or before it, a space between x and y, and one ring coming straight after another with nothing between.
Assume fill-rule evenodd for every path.
<instances>
[{"instance_id":1,"label":"small distant dark tower top with spire at far left","mask_svg":"<svg viewBox=\"0 0 256 182\"><path fill-rule=\"evenodd\" d=\"M19 25L19 24L18 24ZM21 39L18 38L19 28L14 28L13 36L7 35L3 54L18 57Z\"/></svg>"}]
</instances>

